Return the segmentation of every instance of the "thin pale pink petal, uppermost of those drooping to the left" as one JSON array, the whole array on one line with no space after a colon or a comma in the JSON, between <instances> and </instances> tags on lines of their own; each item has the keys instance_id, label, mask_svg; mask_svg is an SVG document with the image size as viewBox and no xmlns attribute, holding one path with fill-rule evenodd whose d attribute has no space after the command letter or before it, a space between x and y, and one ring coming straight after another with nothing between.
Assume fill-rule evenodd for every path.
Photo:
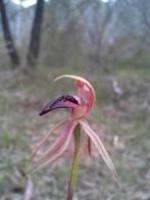
<instances>
[{"instance_id":1,"label":"thin pale pink petal, uppermost of those drooping to the left","mask_svg":"<svg viewBox=\"0 0 150 200\"><path fill-rule=\"evenodd\" d=\"M51 136L52 133L58 131L61 127L63 127L65 124L67 123L67 120L57 124L54 128L52 128L50 130L50 132L45 135L45 137L43 137L36 145L35 147L33 148L33 152L32 152L32 155L31 155L31 159L34 158L34 156L37 154L38 150L40 150L40 148L44 145L45 142L47 142Z\"/></svg>"}]
</instances>

